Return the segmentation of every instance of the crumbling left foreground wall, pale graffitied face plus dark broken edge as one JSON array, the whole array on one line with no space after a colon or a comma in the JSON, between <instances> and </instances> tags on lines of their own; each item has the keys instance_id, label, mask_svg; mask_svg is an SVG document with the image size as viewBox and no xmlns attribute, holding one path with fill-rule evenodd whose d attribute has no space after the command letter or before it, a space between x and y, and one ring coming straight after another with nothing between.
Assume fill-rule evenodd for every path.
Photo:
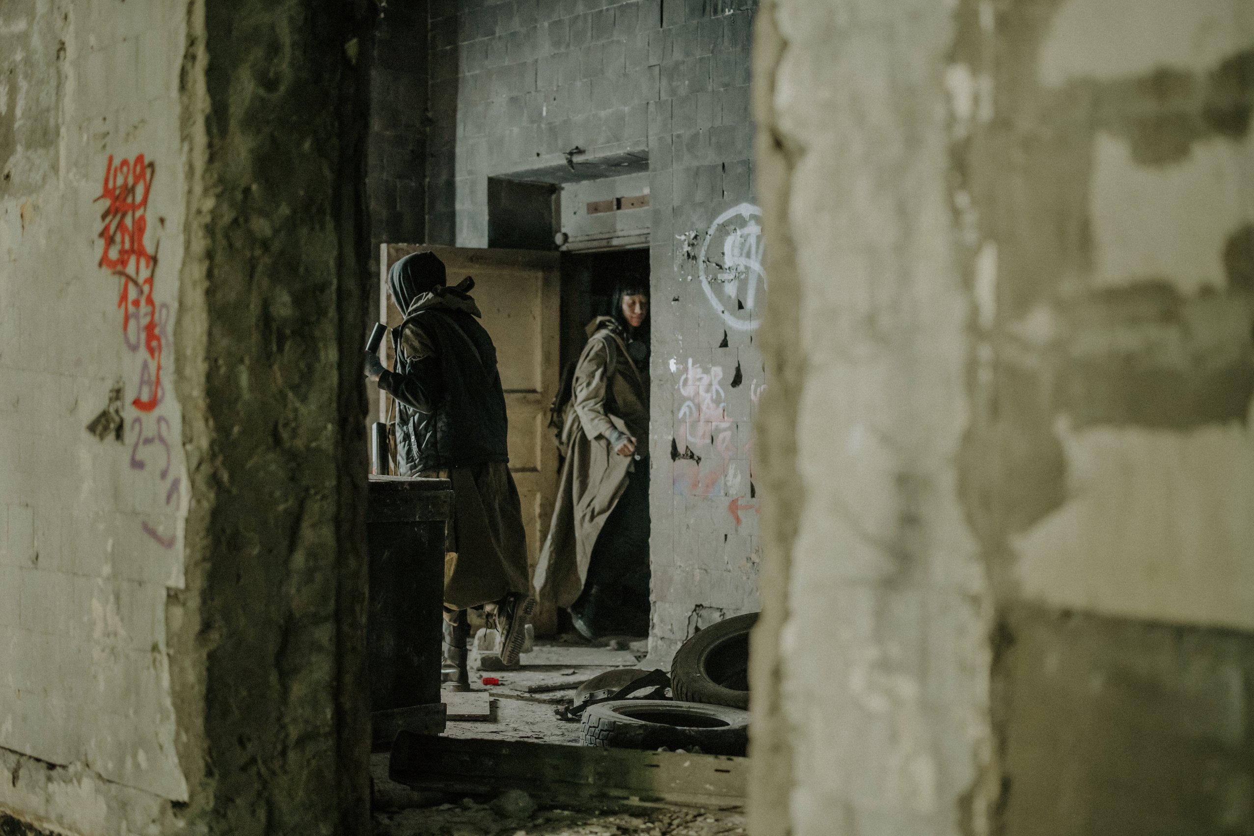
<instances>
[{"instance_id":1,"label":"crumbling left foreground wall, pale graffitied face plus dark broken edge","mask_svg":"<svg viewBox=\"0 0 1254 836\"><path fill-rule=\"evenodd\" d=\"M356 19L209 6L0 10L6 833L366 823Z\"/></svg>"}]
</instances>

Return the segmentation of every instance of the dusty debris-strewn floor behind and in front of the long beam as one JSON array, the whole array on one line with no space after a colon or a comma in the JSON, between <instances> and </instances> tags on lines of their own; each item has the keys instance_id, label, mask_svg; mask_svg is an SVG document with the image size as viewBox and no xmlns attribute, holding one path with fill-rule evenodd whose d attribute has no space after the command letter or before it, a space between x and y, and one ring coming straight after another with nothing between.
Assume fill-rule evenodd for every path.
<instances>
[{"instance_id":1,"label":"dusty debris-strewn floor behind and in front of the long beam","mask_svg":"<svg viewBox=\"0 0 1254 836\"><path fill-rule=\"evenodd\" d=\"M514 671L475 671L472 659L469 698L446 692L445 702L490 701L487 719L450 721L448 737L579 743L579 724L558 719L553 709L574 696L578 684L602 671L635 667L645 658L643 642L606 640L598 645L567 637L537 642ZM497 677L484 686L482 677ZM561 688L528 692L529 686ZM387 753L371 758L375 781L377 836L734 836L745 832L739 807L632 805L613 810L540 807L518 793L498 798L454 798L438 792L415 792L387 777Z\"/></svg>"}]
</instances>

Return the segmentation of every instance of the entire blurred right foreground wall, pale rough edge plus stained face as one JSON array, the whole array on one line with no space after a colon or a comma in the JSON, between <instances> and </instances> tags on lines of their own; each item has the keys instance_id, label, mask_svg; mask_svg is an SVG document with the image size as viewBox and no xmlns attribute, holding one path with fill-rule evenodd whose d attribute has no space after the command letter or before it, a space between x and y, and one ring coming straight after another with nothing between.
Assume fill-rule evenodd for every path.
<instances>
[{"instance_id":1,"label":"entire blurred right foreground wall, pale rough edge plus stained face","mask_svg":"<svg viewBox=\"0 0 1254 836\"><path fill-rule=\"evenodd\" d=\"M756 832L1246 832L1249 5L759 38Z\"/></svg>"}]
</instances>

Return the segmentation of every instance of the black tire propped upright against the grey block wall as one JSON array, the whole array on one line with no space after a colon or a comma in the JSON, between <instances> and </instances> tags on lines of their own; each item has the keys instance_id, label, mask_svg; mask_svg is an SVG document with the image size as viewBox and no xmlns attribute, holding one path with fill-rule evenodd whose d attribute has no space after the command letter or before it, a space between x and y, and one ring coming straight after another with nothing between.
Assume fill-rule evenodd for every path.
<instances>
[{"instance_id":1,"label":"black tire propped upright against the grey block wall","mask_svg":"<svg viewBox=\"0 0 1254 836\"><path fill-rule=\"evenodd\" d=\"M711 624L680 647L671 663L676 699L749 708L749 632L757 613Z\"/></svg>"}]
</instances>

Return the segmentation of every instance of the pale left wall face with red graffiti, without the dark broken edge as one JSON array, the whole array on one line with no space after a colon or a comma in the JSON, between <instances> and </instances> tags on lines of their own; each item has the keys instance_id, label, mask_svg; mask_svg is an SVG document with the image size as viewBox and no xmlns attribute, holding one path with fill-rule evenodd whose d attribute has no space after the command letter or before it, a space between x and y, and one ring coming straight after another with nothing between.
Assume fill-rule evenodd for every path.
<instances>
[{"instance_id":1,"label":"pale left wall face with red graffiti, without the dark broken edge","mask_svg":"<svg viewBox=\"0 0 1254 836\"><path fill-rule=\"evenodd\" d=\"M0 9L0 807L82 832L189 797L186 33L182 4Z\"/></svg>"}]
</instances>

